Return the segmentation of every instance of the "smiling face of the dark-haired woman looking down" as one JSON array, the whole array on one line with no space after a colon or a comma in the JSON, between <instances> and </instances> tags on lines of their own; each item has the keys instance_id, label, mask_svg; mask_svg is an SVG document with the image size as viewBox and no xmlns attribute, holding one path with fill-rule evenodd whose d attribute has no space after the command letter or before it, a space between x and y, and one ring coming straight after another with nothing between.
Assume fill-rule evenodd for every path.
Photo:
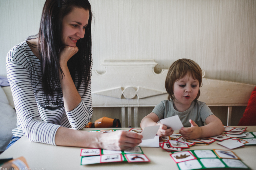
<instances>
[{"instance_id":1,"label":"smiling face of the dark-haired woman looking down","mask_svg":"<svg viewBox=\"0 0 256 170\"><path fill-rule=\"evenodd\" d=\"M84 37L84 29L88 25L89 17L88 10L77 7L64 16L62 23L64 45L76 46L77 40Z\"/></svg>"}]
</instances>

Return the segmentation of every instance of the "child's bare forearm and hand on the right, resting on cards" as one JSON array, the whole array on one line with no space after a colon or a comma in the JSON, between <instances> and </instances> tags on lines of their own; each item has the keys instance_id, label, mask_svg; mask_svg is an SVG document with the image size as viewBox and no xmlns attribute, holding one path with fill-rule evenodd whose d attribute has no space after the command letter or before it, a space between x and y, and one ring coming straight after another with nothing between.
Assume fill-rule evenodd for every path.
<instances>
[{"instance_id":1,"label":"child's bare forearm and hand on the right, resting on cards","mask_svg":"<svg viewBox=\"0 0 256 170\"><path fill-rule=\"evenodd\" d=\"M181 128L179 132L185 139L193 140L212 137L220 135L224 131L222 122L215 115L210 115L205 119L205 126L198 127L191 119L189 122L191 123L191 127Z\"/></svg>"}]
</instances>

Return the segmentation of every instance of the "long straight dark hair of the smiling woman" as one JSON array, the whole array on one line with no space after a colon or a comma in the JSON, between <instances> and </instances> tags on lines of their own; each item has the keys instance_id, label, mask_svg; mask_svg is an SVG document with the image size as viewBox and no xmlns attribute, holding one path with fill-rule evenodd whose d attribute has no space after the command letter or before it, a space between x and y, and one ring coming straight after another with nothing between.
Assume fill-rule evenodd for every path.
<instances>
[{"instance_id":1,"label":"long straight dark hair of the smiling woman","mask_svg":"<svg viewBox=\"0 0 256 170\"><path fill-rule=\"evenodd\" d=\"M38 33L38 51L41 57L42 86L48 95L59 93L59 51L63 46L62 22L73 8L83 8L89 11L88 25L85 27L84 37L76 42L78 52L72 56L67 66L72 80L78 89L81 84L86 87L90 82L91 68L91 5L87 0L46 0ZM63 76L64 77L64 76Z\"/></svg>"}]
</instances>

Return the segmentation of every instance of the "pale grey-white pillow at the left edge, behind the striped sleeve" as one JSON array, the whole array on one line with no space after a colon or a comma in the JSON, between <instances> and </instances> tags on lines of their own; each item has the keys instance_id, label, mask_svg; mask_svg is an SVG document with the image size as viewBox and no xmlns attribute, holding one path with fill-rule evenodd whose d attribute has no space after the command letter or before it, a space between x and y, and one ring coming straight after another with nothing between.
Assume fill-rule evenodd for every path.
<instances>
[{"instance_id":1,"label":"pale grey-white pillow at the left edge, behind the striped sleeve","mask_svg":"<svg viewBox=\"0 0 256 170\"><path fill-rule=\"evenodd\" d=\"M16 125L16 112L15 109L9 105L7 97L0 86L0 153L5 151L6 146L12 138L12 130L17 127Z\"/></svg>"}]
</instances>

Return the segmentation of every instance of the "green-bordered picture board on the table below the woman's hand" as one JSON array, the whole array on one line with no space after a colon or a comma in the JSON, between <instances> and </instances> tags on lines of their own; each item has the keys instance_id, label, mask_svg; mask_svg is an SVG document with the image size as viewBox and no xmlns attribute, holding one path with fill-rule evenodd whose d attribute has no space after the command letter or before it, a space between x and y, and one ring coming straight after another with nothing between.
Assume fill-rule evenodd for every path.
<instances>
[{"instance_id":1,"label":"green-bordered picture board on the table below the woman's hand","mask_svg":"<svg viewBox=\"0 0 256 170\"><path fill-rule=\"evenodd\" d=\"M139 146L126 150L106 150L98 148L81 149L81 165L107 162L150 162Z\"/></svg>"}]
</instances>

